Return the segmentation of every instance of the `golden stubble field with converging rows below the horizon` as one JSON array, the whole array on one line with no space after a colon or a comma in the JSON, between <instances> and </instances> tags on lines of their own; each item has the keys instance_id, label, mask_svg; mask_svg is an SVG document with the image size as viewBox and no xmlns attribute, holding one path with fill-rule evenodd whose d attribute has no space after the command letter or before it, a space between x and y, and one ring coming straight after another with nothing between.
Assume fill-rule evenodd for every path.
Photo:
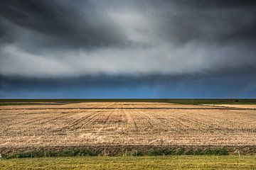
<instances>
[{"instance_id":1,"label":"golden stubble field with converging rows below the horizon","mask_svg":"<svg viewBox=\"0 0 256 170\"><path fill-rule=\"evenodd\" d=\"M256 146L256 110L172 103L0 106L0 150L81 146Z\"/></svg>"}]
</instances>

